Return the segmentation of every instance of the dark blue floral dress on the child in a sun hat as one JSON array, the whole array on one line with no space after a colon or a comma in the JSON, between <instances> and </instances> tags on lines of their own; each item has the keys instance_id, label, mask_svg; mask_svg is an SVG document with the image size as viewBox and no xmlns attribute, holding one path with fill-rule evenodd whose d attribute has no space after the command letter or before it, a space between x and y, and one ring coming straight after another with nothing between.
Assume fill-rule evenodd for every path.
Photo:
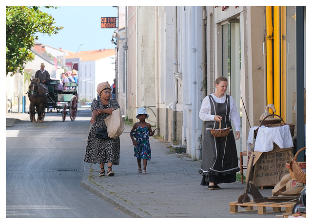
<instances>
[{"instance_id":1,"label":"dark blue floral dress on the child in a sun hat","mask_svg":"<svg viewBox=\"0 0 312 224\"><path fill-rule=\"evenodd\" d=\"M147 127L137 127L137 129L131 133L136 138L137 145L135 146L135 157L137 159L151 160L151 147L150 147L150 132Z\"/></svg>"}]
</instances>

